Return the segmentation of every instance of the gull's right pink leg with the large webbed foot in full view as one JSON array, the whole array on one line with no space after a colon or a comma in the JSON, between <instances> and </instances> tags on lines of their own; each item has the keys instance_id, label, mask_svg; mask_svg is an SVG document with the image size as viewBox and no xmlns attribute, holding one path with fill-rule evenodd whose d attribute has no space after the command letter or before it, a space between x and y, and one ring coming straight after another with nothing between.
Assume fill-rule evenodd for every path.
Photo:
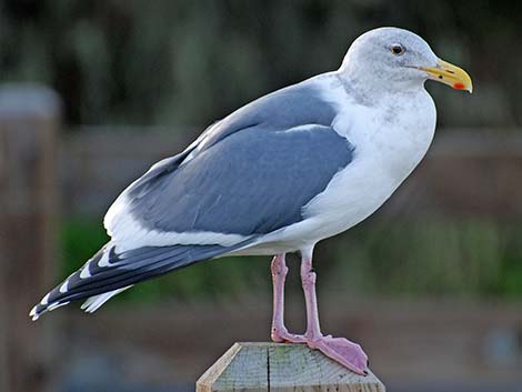
<instances>
[{"instance_id":1,"label":"gull's right pink leg with the large webbed foot in full view","mask_svg":"<svg viewBox=\"0 0 522 392\"><path fill-rule=\"evenodd\" d=\"M324 336L319 325L317 275L312 269L312 249L301 252L301 281L307 302L307 332L304 336L310 349L318 349L327 356L359 374L368 374L368 356L357 343L344 338Z\"/></svg>"}]
</instances>

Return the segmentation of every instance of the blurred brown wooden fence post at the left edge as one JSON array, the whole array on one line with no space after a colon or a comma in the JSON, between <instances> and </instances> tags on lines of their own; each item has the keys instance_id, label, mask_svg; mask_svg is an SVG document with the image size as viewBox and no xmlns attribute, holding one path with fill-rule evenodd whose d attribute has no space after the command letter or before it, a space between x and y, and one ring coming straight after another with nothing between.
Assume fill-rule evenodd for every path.
<instances>
[{"instance_id":1,"label":"blurred brown wooden fence post at the left edge","mask_svg":"<svg viewBox=\"0 0 522 392\"><path fill-rule=\"evenodd\" d=\"M46 391L49 323L29 310L56 262L60 103L43 87L0 86L0 390ZM52 322L51 322L52 323Z\"/></svg>"}]
</instances>

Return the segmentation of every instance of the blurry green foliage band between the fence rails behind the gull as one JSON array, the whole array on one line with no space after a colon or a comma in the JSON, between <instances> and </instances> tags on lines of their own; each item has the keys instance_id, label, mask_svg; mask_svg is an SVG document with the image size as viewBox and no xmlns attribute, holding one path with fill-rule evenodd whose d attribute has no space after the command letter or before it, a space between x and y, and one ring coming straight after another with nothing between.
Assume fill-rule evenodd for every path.
<instances>
[{"instance_id":1,"label":"blurry green foliage band between the fence rails behind the gull","mask_svg":"<svg viewBox=\"0 0 522 392\"><path fill-rule=\"evenodd\" d=\"M314 267L319 289L342 295L522 298L522 229L492 221L373 220L323 241ZM62 228L61 275L80 268L108 238L98 221L71 219ZM288 290L300 291L290 258ZM271 291L270 258L204 261L138 284L120 300L217 300Z\"/></svg>"}]
</instances>

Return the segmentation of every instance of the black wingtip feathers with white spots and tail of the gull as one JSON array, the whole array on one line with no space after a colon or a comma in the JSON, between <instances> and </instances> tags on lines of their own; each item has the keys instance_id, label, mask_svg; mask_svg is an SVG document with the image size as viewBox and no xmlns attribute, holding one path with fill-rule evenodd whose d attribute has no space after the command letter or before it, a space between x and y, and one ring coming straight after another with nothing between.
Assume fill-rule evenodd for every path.
<instances>
[{"instance_id":1,"label":"black wingtip feathers with white spots and tail of the gull","mask_svg":"<svg viewBox=\"0 0 522 392\"><path fill-rule=\"evenodd\" d=\"M71 301L88 299L82 309L94 312L109 299L140 281L158 277L198 261L231 252L244 243L222 245L143 247L117 253L109 242L86 264L56 287L29 313L38 320L43 313Z\"/></svg>"}]
</instances>

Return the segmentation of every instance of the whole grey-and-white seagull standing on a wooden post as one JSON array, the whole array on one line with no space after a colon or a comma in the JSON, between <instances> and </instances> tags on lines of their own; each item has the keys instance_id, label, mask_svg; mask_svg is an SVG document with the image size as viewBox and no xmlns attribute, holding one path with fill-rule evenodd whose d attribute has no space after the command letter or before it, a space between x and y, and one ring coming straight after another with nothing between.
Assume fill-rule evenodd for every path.
<instances>
[{"instance_id":1,"label":"whole grey-and-white seagull standing on a wooden post","mask_svg":"<svg viewBox=\"0 0 522 392\"><path fill-rule=\"evenodd\" d=\"M111 240L30 316L76 300L94 312L140 281L198 261L273 255L272 340L308 344L368 374L359 344L321 332L313 249L375 212L424 157L436 120L429 79L472 91L468 73L415 33L363 33L337 71L245 104L132 182L104 218ZM301 257L304 334L284 326L290 252Z\"/></svg>"}]
</instances>

